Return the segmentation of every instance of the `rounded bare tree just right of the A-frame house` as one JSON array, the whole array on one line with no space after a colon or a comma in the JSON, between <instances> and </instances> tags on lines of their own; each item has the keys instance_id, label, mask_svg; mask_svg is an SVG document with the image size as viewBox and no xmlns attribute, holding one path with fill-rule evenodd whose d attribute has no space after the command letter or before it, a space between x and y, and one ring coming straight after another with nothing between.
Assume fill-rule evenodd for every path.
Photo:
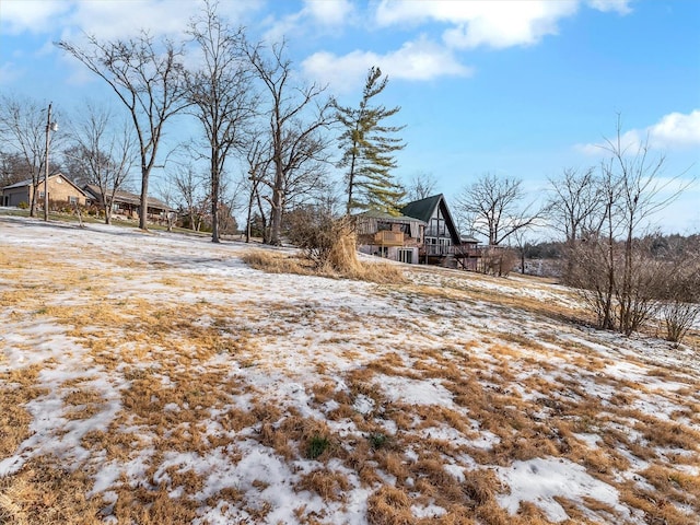
<instances>
[{"instance_id":1,"label":"rounded bare tree just right of the A-frame house","mask_svg":"<svg viewBox=\"0 0 700 525\"><path fill-rule=\"evenodd\" d=\"M524 198L522 180L487 173L462 190L455 208L462 217L472 219L472 230L488 237L490 246L498 246L545 217L546 208L523 207Z\"/></svg>"}]
</instances>

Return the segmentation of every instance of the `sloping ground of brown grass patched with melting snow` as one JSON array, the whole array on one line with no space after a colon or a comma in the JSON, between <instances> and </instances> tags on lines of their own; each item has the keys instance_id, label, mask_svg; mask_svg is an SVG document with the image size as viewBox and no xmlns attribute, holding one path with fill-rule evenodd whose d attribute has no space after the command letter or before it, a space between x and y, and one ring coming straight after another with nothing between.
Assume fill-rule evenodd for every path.
<instances>
[{"instance_id":1,"label":"sloping ground of brown grass patched with melting snow","mask_svg":"<svg viewBox=\"0 0 700 525\"><path fill-rule=\"evenodd\" d=\"M700 523L698 349L561 320L575 296L535 280L270 275L249 249L0 215L26 415L0 477L85 472L106 523L149 512L137 489L194 523Z\"/></svg>"}]
</instances>

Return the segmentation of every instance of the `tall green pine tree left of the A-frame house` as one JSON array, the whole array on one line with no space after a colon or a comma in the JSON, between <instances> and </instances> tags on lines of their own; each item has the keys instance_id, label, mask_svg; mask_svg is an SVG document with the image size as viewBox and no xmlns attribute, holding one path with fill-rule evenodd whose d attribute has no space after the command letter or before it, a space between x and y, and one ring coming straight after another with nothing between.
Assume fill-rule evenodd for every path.
<instances>
[{"instance_id":1,"label":"tall green pine tree left of the A-frame house","mask_svg":"<svg viewBox=\"0 0 700 525\"><path fill-rule=\"evenodd\" d=\"M398 213L400 200L406 191L393 177L396 167L394 153L406 144L396 137L404 126L384 126L381 122L396 115L400 107L372 106L372 98L386 88L388 78L382 78L382 70L370 68L362 92L360 107L336 106L337 116L345 126L340 136L343 150L341 166L346 174L348 203L347 212L355 209L376 209Z\"/></svg>"}]
</instances>

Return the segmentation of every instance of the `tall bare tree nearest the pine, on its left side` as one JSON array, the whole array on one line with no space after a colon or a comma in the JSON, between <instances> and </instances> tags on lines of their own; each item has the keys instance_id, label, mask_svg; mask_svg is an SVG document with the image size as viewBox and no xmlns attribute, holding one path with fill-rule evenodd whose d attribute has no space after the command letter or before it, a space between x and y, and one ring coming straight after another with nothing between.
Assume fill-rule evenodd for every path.
<instances>
[{"instance_id":1,"label":"tall bare tree nearest the pine, on its left side","mask_svg":"<svg viewBox=\"0 0 700 525\"><path fill-rule=\"evenodd\" d=\"M273 174L270 180L269 244L281 244L282 215L290 175L310 163L323 160L328 140L323 131L334 121L325 88L294 82L291 61L284 57L284 43L267 49L248 45L246 54L262 84L261 104L267 108ZM269 51L269 52L267 52Z\"/></svg>"}]
</instances>

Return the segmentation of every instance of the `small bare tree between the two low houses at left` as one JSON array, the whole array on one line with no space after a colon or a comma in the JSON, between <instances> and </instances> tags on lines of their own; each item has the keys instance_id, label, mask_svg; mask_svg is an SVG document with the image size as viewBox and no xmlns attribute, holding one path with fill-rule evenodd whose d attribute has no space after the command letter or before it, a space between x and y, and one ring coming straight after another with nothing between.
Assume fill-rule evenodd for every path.
<instances>
[{"instance_id":1,"label":"small bare tree between the two low houses at left","mask_svg":"<svg viewBox=\"0 0 700 525\"><path fill-rule=\"evenodd\" d=\"M105 223L112 223L115 195L131 174L136 162L136 140L128 125L113 125L112 112L86 104L84 118L75 126L73 147L68 153L74 168L97 186Z\"/></svg>"}]
</instances>

